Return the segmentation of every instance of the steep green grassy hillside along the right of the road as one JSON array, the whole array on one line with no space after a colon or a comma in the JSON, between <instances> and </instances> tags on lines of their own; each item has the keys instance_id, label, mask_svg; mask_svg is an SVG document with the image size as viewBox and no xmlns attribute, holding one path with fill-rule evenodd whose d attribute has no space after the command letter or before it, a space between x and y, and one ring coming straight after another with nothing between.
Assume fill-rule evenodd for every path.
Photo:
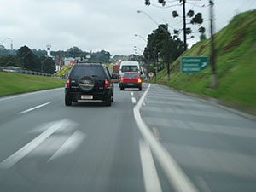
<instances>
[{"instance_id":1,"label":"steep green grassy hillside along the right of the road","mask_svg":"<svg viewBox=\"0 0 256 192\"><path fill-rule=\"evenodd\" d=\"M201 73L180 73L180 58L172 63L171 80L166 70L158 73L158 83L201 96L218 98L225 104L255 112L256 108L256 10L236 15L215 34L218 87L212 89L211 67ZM182 56L209 56L210 40L201 41ZM254 113L253 112L253 113Z\"/></svg>"}]
</instances>

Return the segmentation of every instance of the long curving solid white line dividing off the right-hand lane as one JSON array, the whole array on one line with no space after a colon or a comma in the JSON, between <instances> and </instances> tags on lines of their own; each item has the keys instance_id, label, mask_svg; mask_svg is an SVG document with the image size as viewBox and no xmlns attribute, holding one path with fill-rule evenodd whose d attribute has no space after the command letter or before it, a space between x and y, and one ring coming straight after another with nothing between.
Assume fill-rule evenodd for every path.
<instances>
[{"instance_id":1,"label":"long curving solid white line dividing off the right-hand lane","mask_svg":"<svg viewBox=\"0 0 256 192\"><path fill-rule=\"evenodd\" d=\"M134 118L139 131L142 133L145 140L148 141L155 158L159 161L160 166L166 173L167 180L170 184L172 183L172 187L177 192L197 192L198 189L195 188L195 185L189 180L189 177L183 172L180 166L177 165L177 162L172 158L171 154L167 152L166 148L154 138L154 134L149 130L141 117L140 108L148 93L150 85L151 84L148 85L147 90L144 92L139 102L137 102L137 105L133 108Z\"/></svg>"}]
</instances>

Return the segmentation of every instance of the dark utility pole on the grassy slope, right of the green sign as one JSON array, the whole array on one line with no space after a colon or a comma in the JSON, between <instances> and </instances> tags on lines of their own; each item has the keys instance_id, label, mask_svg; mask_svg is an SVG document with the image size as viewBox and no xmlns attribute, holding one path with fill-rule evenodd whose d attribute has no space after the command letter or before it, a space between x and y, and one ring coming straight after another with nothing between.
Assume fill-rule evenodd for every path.
<instances>
[{"instance_id":1,"label":"dark utility pole on the grassy slope, right of the green sign","mask_svg":"<svg viewBox=\"0 0 256 192\"><path fill-rule=\"evenodd\" d=\"M216 66L215 66L215 41L214 41L214 35L213 35L213 0L209 1L210 3L210 28L211 28L211 56L210 56L210 64L212 67L212 84L211 87L215 88L217 87L217 74L216 74Z\"/></svg>"}]
</instances>

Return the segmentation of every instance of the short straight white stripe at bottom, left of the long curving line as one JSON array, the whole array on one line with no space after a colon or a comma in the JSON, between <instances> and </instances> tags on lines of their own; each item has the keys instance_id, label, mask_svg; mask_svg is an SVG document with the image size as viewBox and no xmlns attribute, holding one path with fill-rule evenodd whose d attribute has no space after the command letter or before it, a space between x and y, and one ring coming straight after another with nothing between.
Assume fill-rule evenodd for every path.
<instances>
[{"instance_id":1,"label":"short straight white stripe at bottom, left of the long curving line","mask_svg":"<svg viewBox=\"0 0 256 192\"><path fill-rule=\"evenodd\" d=\"M150 147L146 141L139 141L141 161L143 166L143 179L146 192L161 192L159 177L154 166Z\"/></svg>"}]
</instances>

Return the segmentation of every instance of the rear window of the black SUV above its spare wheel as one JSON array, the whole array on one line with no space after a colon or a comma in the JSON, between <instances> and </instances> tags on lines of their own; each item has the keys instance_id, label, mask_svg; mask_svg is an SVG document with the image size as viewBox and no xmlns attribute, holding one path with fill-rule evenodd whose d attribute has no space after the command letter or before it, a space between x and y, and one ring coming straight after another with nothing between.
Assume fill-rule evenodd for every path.
<instances>
[{"instance_id":1,"label":"rear window of the black SUV above its spare wheel","mask_svg":"<svg viewBox=\"0 0 256 192\"><path fill-rule=\"evenodd\" d=\"M98 77L105 77L105 73L102 66L91 66L91 65L81 65L81 66L74 66L71 72L73 77L80 77L84 75L88 76L98 76Z\"/></svg>"}]
</instances>

